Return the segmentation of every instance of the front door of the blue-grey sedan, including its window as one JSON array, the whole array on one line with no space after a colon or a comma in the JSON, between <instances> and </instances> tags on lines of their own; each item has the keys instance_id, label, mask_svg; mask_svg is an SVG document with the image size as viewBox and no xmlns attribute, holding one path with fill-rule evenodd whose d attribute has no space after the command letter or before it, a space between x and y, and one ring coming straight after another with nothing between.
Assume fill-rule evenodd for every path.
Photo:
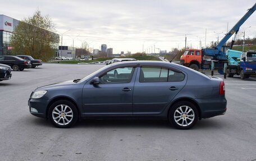
<instances>
[{"instance_id":1,"label":"front door of the blue-grey sedan, including its window","mask_svg":"<svg viewBox=\"0 0 256 161\"><path fill-rule=\"evenodd\" d=\"M117 67L100 74L99 85L83 88L83 115L131 115L136 67Z\"/></svg>"}]
</instances>

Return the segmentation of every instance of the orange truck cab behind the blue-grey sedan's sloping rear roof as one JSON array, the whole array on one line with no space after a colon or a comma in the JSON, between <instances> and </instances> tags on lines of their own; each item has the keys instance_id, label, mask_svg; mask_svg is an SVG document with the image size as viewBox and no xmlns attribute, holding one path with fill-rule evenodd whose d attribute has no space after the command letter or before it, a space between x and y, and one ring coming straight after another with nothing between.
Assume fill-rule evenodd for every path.
<instances>
[{"instance_id":1,"label":"orange truck cab behind the blue-grey sedan's sloping rear roof","mask_svg":"<svg viewBox=\"0 0 256 161\"><path fill-rule=\"evenodd\" d=\"M186 49L180 58L180 64L198 71L202 63L202 50Z\"/></svg>"}]
</instances>

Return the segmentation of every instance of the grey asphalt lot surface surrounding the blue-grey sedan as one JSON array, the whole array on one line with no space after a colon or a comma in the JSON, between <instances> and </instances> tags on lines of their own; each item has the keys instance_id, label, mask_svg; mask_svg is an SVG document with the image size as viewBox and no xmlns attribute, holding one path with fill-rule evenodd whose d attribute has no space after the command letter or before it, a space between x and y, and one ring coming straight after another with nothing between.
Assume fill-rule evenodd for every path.
<instances>
[{"instance_id":1,"label":"grey asphalt lot surface surrounding the blue-grey sedan","mask_svg":"<svg viewBox=\"0 0 256 161\"><path fill-rule=\"evenodd\" d=\"M103 66L45 63L0 82L0 160L256 160L255 78L225 80L227 113L191 130L143 120L84 120L61 129L29 113L28 99L38 86Z\"/></svg>"}]
</instances>

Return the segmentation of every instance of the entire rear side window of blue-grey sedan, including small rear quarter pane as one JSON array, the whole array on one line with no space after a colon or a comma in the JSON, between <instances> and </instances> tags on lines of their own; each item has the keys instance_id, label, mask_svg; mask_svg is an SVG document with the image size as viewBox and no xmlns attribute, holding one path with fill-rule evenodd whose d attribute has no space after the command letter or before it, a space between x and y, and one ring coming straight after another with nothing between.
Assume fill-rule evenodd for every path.
<instances>
[{"instance_id":1,"label":"entire rear side window of blue-grey sedan, including small rear quarter pane","mask_svg":"<svg viewBox=\"0 0 256 161\"><path fill-rule=\"evenodd\" d=\"M172 71L163 67L141 67L140 82L172 82L183 81L184 73Z\"/></svg>"}]
</instances>

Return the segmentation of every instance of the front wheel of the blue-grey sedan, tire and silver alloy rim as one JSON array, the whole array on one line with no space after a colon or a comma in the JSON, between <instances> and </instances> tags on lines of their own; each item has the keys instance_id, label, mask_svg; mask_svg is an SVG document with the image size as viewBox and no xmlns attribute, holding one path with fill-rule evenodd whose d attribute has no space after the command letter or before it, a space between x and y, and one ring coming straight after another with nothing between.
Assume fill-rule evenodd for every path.
<instances>
[{"instance_id":1,"label":"front wheel of the blue-grey sedan, tire and silver alloy rim","mask_svg":"<svg viewBox=\"0 0 256 161\"><path fill-rule=\"evenodd\" d=\"M78 112L75 105L70 101L57 100L49 108L48 117L54 126L68 128L77 122Z\"/></svg>"}]
</instances>

